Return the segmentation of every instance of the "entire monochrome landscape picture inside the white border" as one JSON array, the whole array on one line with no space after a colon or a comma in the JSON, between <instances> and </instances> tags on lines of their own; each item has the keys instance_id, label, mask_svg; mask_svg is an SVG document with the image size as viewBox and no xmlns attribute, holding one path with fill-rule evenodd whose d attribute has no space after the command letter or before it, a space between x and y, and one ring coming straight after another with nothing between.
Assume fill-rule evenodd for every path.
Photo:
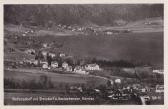
<instances>
[{"instance_id":1,"label":"entire monochrome landscape picture inside the white border","mask_svg":"<svg viewBox=\"0 0 168 109\"><path fill-rule=\"evenodd\" d=\"M164 105L164 4L4 4L4 105Z\"/></svg>"}]
</instances>

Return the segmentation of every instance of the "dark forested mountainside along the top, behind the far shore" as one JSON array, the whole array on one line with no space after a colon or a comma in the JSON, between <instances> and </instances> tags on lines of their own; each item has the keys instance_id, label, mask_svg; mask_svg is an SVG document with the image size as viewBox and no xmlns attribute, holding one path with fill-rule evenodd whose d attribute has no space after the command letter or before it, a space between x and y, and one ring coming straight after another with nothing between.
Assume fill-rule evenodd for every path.
<instances>
[{"instance_id":1,"label":"dark forested mountainside along the top, behind the far shore","mask_svg":"<svg viewBox=\"0 0 168 109\"><path fill-rule=\"evenodd\" d=\"M4 5L4 22L38 26L115 25L117 20L163 18L163 12L163 4Z\"/></svg>"}]
</instances>

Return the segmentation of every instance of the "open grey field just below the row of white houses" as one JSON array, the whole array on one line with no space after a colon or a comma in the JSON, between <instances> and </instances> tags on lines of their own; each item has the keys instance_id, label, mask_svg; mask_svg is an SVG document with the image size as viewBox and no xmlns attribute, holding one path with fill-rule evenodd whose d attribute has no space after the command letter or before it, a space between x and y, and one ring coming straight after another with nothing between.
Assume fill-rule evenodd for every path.
<instances>
[{"instance_id":1,"label":"open grey field just below the row of white houses","mask_svg":"<svg viewBox=\"0 0 168 109\"><path fill-rule=\"evenodd\" d=\"M93 77L90 75L78 75L78 74L58 74L58 73L51 73L46 71L40 70L33 70L33 69L24 69L20 71L4 71L4 77L6 79L13 79L16 82L27 81L30 82L32 80L39 81L40 76L46 75L55 86L59 83L68 83L68 84L88 84L88 82L95 82L95 85L106 84L107 80L99 77ZM90 83L92 84L92 83Z\"/></svg>"}]
</instances>

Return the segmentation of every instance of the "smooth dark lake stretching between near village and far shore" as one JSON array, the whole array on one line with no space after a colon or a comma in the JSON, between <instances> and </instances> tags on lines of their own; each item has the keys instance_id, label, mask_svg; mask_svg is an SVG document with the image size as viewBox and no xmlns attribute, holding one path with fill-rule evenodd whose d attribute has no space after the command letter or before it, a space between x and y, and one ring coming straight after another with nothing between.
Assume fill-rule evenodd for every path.
<instances>
[{"instance_id":1,"label":"smooth dark lake stretching between near village and far shore","mask_svg":"<svg viewBox=\"0 0 168 109\"><path fill-rule=\"evenodd\" d=\"M51 38L49 38L51 37ZM113 36L42 37L46 42L62 43L70 55L110 60L136 60L163 66L163 33L128 33Z\"/></svg>"}]
</instances>

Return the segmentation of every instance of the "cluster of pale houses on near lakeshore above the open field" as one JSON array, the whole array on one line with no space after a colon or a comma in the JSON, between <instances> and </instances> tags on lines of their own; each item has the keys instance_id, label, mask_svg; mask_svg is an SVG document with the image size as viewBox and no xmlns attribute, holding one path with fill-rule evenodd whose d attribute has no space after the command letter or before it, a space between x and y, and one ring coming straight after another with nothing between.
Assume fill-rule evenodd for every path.
<instances>
[{"instance_id":1,"label":"cluster of pale houses on near lakeshore above the open field","mask_svg":"<svg viewBox=\"0 0 168 109\"><path fill-rule=\"evenodd\" d=\"M35 50L29 49L25 51L25 53L28 54L35 54ZM43 60L38 60L38 59L32 59L32 60L24 60L22 63L28 63L29 65L33 66L41 66L42 69L62 69L62 71L65 72L72 72L72 73L77 73L77 74L89 74L89 71L99 71L101 70L100 66L98 64L86 64L86 65L76 65L72 66L68 64L66 61L59 63L56 60L51 61L51 63L48 63L47 61L47 55L50 56L51 58L55 58L56 54L55 53L48 53L47 51L42 51L41 54L43 55L44 59ZM63 58L66 55L64 53L59 54L59 58ZM61 64L61 65L60 65Z\"/></svg>"}]
</instances>

